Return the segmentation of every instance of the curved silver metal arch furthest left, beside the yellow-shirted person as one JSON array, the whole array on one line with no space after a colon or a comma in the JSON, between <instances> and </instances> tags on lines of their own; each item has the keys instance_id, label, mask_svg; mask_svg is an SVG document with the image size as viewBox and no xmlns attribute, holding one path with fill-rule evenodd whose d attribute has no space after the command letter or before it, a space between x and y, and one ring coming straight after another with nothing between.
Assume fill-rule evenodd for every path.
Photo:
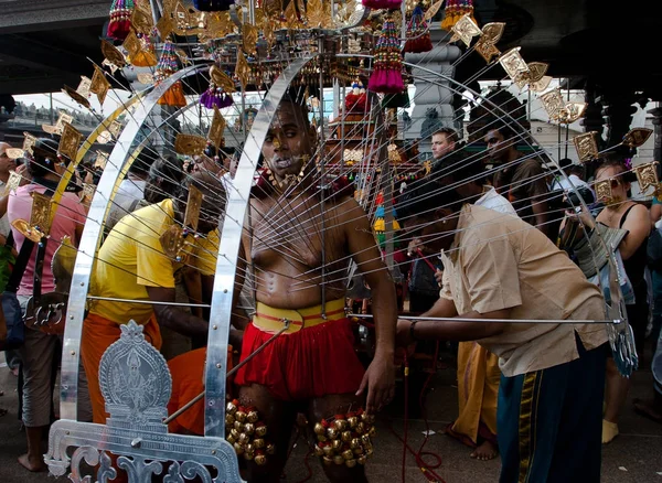
<instances>
[{"instance_id":1,"label":"curved silver metal arch furthest left, beside the yellow-shirted person","mask_svg":"<svg viewBox=\"0 0 662 483\"><path fill-rule=\"evenodd\" d=\"M157 101L174 83L206 67L206 65L192 66L173 74L156 86L153 90L136 106L134 115L130 117L127 126L122 129L121 135L108 158L108 163L106 164L97 191L92 200L92 205L87 214L88 219L105 219L113 203L116 182L122 167L130 157L129 149L131 143L157 105ZM85 224L81 244L78 246L76 265L74 266L62 351L62 382L60 391L61 419L76 420L81 334L83 331L89 278L100 239L102 225L100 222Z\"/></svg>"}]
</instances>

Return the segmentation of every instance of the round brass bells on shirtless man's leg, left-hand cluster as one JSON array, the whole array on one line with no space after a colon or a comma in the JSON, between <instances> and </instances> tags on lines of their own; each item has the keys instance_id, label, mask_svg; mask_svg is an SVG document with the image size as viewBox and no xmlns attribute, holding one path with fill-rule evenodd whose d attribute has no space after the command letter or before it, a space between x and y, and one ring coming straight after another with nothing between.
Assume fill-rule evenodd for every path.
<instances>
[{"instance_id":1,"label":"round brass bells on shirtless man's leg, left-hand cluster","mask_svg":"<svg viewBox=\"0 0 662 483\"><path fill-rule=\"evenodd\" d=\"M234 399L225 408L225 439L237 455L258 465L267 464L267 454L276 453L274 443L265 439L267 427L259 420L255 408L239 406Z\"/></svg>"}]
</instances>

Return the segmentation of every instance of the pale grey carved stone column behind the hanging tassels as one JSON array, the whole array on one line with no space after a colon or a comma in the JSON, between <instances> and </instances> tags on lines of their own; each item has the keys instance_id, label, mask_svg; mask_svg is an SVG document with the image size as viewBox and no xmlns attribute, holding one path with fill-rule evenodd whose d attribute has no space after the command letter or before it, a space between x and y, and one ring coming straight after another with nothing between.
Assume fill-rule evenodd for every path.
<instances>
[{"instance_id":1,"label":"pale grey carved stone column behind the hanging tassels","mask_svg":"<svg viewBox=\"0 0 662 483\"><path fill-rule=\"evenodd\" d=\"M461 51L448 42L440 42L444 37L450 39L450 35L438 26L438 22L435 23L436 25L430 28L430 40L435 47L421 54L405 54L406 62L421 67L412 68L416 86L413 99L415 107L412 112L412 126L405 132L405 139L420 139L418 144L420 160L431 157L430 135L437 128L447 126L456 130L461 129L461 119L455 119L452 107L453 86L438 75L442 74L451 78L455 76L455 67L451 64L460 56ZM437 119L433 122L428 121L424 130L428 109L437 111ZM421 139L423 137L425 138Z\"/></svg>"}]
</instances>

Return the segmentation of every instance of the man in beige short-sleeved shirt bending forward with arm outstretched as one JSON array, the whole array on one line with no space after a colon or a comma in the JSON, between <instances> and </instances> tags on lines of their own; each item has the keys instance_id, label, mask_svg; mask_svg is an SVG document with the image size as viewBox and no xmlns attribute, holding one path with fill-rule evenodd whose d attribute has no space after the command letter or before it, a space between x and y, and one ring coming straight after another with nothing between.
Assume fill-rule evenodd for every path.
<instances>
[{"instance_id":1,"label":"man in beige short-sleeved shirt bending forward with arm outstretched","mask_svg":"<svg viewBox=\"0 0 662 483\"><path fill-rule=\"evenodd\" d=\"M540 230L462 206L458 172L413 186L397 211L408 236L444 250L441 298L424 316L465 321L402 320L399 342L478 341L499 355L501 483L597 483L607 332L573 321L605 320L602 296Z\"/></svg>"}]
</instances>

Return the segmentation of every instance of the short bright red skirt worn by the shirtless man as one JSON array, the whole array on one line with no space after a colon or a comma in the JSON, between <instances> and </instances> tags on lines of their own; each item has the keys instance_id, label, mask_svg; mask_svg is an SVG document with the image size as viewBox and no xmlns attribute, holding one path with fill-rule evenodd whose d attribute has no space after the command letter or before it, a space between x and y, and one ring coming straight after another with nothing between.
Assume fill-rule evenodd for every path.
<instances>
[{"instance_id":1,"label":"short bright red skirt worn by the shirtless man","mask_svg":"<svg viewBox=\"0 0 662 483\"><path fill-rule=\"evenodd\" d=\"M249 323L242 361L271 335ZM356 393L364 372L354 351L352 323L340 319L280 335L237 371L235 383L259 384L275 399L293 401Z\"/></svg>"}]
</instances>

